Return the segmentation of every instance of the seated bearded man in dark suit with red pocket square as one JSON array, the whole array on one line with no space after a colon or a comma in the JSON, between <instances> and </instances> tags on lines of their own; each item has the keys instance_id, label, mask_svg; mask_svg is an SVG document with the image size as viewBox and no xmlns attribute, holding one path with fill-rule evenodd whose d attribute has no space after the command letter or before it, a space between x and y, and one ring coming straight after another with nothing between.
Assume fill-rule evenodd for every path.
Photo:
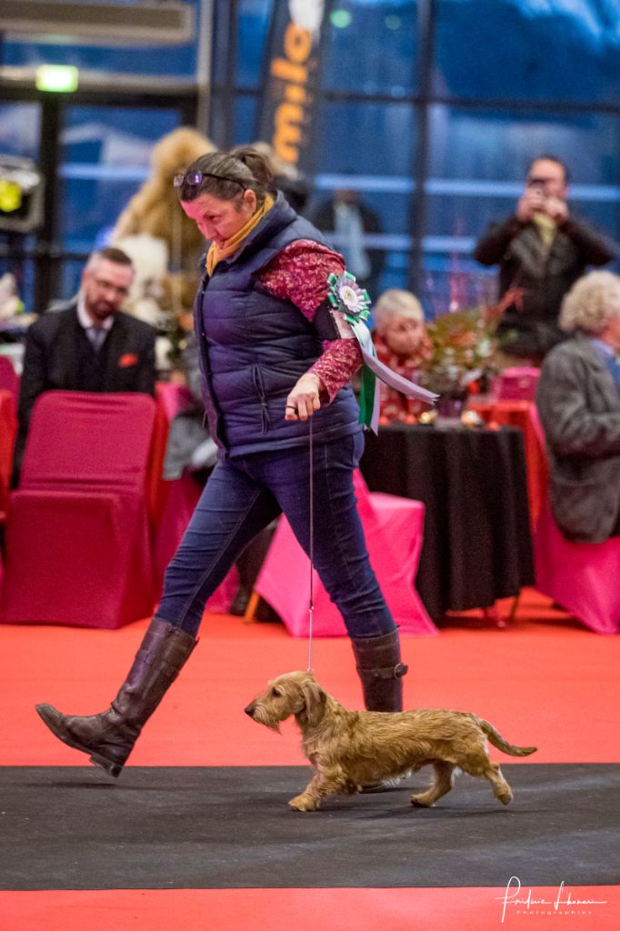
<instances>
[{"instance_id":1,"label":"seated bearded man in dark suit with red pocket square","mask_svg":"<svg viewBox=\"0 0 620 931\"><path fill-rule=\"evenodd\" d=\"M120 308L133 280L125 252L93 252L76 297L29 328L20 382L13 482L19 478L34 401L44 391L155 394L155 330Z\"/></svg>"}]
</instances>

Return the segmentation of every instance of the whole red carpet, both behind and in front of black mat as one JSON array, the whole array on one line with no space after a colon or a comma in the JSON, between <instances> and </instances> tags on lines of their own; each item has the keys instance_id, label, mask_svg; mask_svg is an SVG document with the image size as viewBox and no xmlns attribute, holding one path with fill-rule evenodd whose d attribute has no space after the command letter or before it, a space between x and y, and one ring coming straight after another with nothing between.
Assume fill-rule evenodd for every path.
<instances>
[{"instance_id":1,"label":"whole red carpet, both behind and in front of black mat","mask_svg":"<svg viewBox=\"0 0 620 931\"><path fill-rule=\"evenodd\" d=\"M0 627L0 763L84 765L81 754L47 734L34 703L49 701L74 713L106 707L145 626L141 622L118 631ZM404 639L403 652L410 666L405 679L408 706L475 710L509 740L535 743L540 748L531 758L535 762L620 762L620 640L587 632L549 610L548 602L537 595L524 600L516 621L506 629L490 627L479 613L470 613L452 619L440 637ZM268 678L306 666L307 644L291 640L283 627L206 617L201 642L146 727L131 763L302 763L293 725L285 726L278 737L250 722L243 708ZM345 705L360 706L347 641L316 641L313 667L328 691ZM617 886L573 888L573 902L596 899L604 904L564 904L555 910L553 905L533 903L541 898L556 902L558 888L525 890L527 878L521 879L530 904L520 909L509 905L504 922L504 889L121 890L0 893L0 929L168 931L182 923L188 931L309 931L317 925L327 931L611 931L620 925ZM567 901L566 890L562 901Z\"/></svg>"}]
</instances>

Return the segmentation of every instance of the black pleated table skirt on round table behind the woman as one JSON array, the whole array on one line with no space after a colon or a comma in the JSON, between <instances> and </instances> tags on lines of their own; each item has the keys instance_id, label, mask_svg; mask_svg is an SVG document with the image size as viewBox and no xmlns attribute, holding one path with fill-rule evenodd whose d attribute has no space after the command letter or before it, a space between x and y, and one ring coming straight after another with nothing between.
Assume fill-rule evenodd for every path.
<instances>
[{"instance_id":1,"label":"black pleated table skirt on round table behind the woman","mask_svg":"<svg viewBox=\"0 0 620 931\"><path fill-rule=\"evenodd\" d=\"M533 584L523 437L517 427L390 425L366 435L371 491L423 501L416 587L428 614L485 608Z\"/></svg>"}]
</instances>

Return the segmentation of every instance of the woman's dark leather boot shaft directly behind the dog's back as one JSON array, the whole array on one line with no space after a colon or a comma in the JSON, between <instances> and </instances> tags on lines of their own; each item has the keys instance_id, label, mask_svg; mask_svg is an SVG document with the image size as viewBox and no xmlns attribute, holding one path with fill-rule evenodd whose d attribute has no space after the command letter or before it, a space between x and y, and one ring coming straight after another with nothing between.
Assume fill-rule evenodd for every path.
<instances>
[{"instance_id":1,"label":"woman's dark leather boot shaft directly behind the dog's back","mask_svg":"<svg viewBox=\"0 0 620 931\"><path fill-rule=\"evenodd\" d=\"M366 709L402 711L402 677L407 667L400 662L398 630L380 637L352 637L351 643Z\"/></svg>"}]
</instances>

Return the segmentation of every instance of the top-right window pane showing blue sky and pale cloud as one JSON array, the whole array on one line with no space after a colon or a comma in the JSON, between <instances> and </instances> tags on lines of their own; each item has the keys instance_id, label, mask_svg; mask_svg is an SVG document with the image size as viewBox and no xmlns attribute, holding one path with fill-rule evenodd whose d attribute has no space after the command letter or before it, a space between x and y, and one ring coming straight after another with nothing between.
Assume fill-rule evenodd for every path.
<instances>
[{"instance_id":1,"label":"top-right window pane showing blue sky and pale cloud","mask_svg":"<svg viewBox=\"0 0 620 931\"><path fill-rule=\"evenodd\" d=\"M436 11L435 94L617 102L616 0L437 0Z\"/></svg>"}]
</instances>

